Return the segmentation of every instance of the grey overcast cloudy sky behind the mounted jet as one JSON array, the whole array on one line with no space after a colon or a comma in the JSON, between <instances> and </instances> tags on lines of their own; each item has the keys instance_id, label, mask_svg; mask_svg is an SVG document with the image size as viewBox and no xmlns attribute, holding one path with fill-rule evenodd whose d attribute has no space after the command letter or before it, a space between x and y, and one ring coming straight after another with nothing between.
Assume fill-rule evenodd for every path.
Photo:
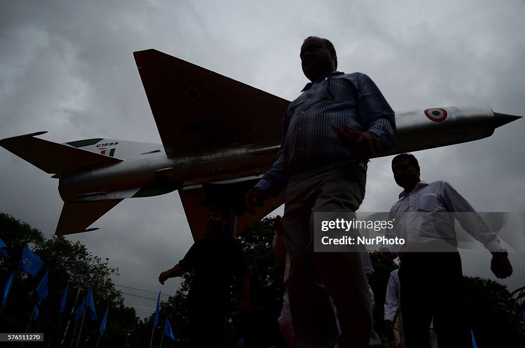
<instances>
[{"instance_id":1,"label":"grey overcast cloudy sky behind the mounted jet","mask_svg":"<svg viewBox=\"0 0 525 348\"><path fill-rule=\"evenodd\" d=\"M133 59L148 48L292 100L307 82L299 48L310 35L329 38L338 69L369 75L396 111L489 105L525 116L523 14L520 0L0 0L0 139L45 130L41 138L55 142L160 144ZM449 181L478 211L525 211L523 134L518 120L487 139L416 152L422 178ZM397 199L390 160L370 163L361 211L388 211ZM0 211L53 234L57 179L5 149L0 163ZM192 244L178 193L124 200L93 226L67 238L109 258L116 284L175 293L177 280L157 278ZM509 257L514 274L503 283L512 291L525 285L525 255ZM493 278L487 251L463 260L465 274ZM141 316L154 311L155 301L125 299L141 304Z\"/></svg>"}]
</instances>

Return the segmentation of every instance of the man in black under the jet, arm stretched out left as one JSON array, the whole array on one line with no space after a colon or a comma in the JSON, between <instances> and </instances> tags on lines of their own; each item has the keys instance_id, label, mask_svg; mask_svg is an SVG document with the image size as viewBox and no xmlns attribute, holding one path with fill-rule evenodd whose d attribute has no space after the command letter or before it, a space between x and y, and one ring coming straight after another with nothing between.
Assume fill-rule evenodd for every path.
<instances>
[{"instance_id":1,"label":"man in black under the jet, arm stretched out left","mask_svg":"<svg viewBox=\"0 0 525 348\"><path fill-rule=\"evenodd\" d=\"M241 282L239 311L249 307L249 278L246 259L237 241L224 236L228 220L220 208L209 211L208 233L196 241L184 258L159 275L159 282L195 270L188 292L188 324L192 347L220 347L222 328L230 300L232 275Z\"/></svg>"}]
</instances>

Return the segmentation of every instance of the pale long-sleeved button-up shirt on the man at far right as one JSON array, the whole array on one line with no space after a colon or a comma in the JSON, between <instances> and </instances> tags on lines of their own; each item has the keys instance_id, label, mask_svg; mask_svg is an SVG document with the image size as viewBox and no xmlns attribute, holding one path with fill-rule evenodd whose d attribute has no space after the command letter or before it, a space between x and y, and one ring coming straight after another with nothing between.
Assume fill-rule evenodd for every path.
<instances>
[{"instance_id":1,"label":"pale long-sleeved button-up shirt on the man at far right","mask_svg":"<svg viewBox=\"0 0 525 348\"><path fill-rule=\"evenodd\" d=\"M501 248L499 239L485 221L447 181L419 181L414 189L401 192L390 209L388 219L395 219L385 237L403 238L404 245L384 245L394 253L406 251L454 251L457 238L454 219L490 252Z\"/></svg>"}]
</instances>

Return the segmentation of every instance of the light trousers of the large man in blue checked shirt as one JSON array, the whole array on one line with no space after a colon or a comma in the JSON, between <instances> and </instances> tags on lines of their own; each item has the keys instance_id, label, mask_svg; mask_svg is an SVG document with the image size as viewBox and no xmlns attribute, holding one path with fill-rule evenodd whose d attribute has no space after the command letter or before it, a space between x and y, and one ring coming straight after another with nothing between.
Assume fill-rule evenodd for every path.
<instances>
[{"instance_id":1,"label":"light trousers of the large man in blue checked shirt","mask_svg":"<svg viewBox=\"0 0 525 348\"><path fill-rule=\"evenodd\" d=\"M314 252L314 212L354 212L363 201L366 171L333 163L292 176L283 224L290 257L285 285L300 348L381 347L372 328L370 294L360 252ZM337 329L333 299L341 327Z\"/></svg>"}]
</instances>

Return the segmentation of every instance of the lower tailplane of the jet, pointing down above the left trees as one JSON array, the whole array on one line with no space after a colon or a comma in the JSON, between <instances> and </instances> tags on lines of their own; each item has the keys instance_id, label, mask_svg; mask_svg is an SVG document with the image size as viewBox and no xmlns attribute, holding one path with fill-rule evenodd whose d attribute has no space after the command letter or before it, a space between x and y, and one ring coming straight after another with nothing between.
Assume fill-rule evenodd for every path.
<instances>
[{"instance_id":1,"label":"lower tailplane of the jet, pointing down above the left trees","mask_svg":"<svg viewBox=\"0 0 525 348\"><path fill-rule=\"evenodd\" d=\"M121 201L122 199L108 199L64 203L55 234L64 236L64 234L97 230L97 228L86 228Z\"/></svg>"}]
</instances>

